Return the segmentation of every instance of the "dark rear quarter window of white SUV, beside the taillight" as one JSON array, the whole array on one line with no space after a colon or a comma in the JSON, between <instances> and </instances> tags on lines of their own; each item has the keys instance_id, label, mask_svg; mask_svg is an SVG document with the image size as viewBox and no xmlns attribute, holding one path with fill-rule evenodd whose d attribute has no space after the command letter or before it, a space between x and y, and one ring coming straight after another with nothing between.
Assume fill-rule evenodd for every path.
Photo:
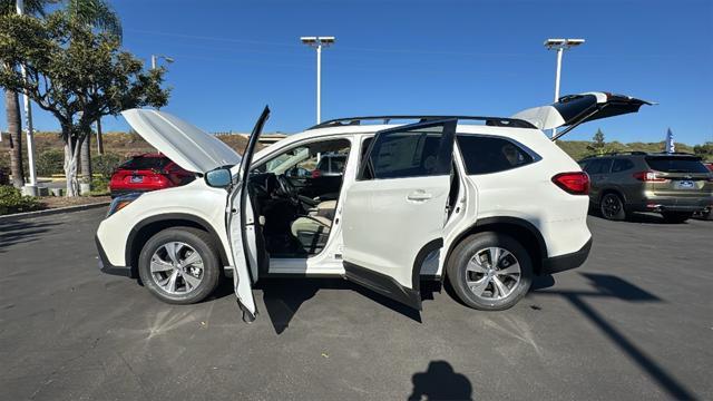
<instances>
[{"instance_id":1,"label":"dark rear quarter window of white SUV, beside the taillight","mask_svg":"<svg viewBox=\"0 0 713 401\"><path fill-rule=\"evenodd\" d=\"M505 138L458 135L456 140L469 175L505 172L534 162L533 156Z\"/></svg>"}]
</instances>

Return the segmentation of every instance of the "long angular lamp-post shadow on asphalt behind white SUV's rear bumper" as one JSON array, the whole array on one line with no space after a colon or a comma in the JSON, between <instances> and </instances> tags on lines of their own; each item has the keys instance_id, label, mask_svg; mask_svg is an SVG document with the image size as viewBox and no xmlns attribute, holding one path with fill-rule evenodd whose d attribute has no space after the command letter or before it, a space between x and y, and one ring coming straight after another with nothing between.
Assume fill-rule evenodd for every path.
<instances>
[{"instance_id":1,"label":"long angular lamp-post shadow on asphalt behind white SUV's rear bumper","mask_svg":"<svg viewBox=\"0 0 713 401\"><path fill-rule=\"evenodd\" d=\"M595 291L538 291L537 295L563 296L583 315L594 323L621 351L644 370L652 380L676 400L694 400L696 397L680 383L663 366L641 350L636 344L621 333L604 319L594 307L585 302L587 299L615 299L626 302L663 302L656 295L636 285L609 274L580 273L589 281Z\"/></svg>"}]
</instances>

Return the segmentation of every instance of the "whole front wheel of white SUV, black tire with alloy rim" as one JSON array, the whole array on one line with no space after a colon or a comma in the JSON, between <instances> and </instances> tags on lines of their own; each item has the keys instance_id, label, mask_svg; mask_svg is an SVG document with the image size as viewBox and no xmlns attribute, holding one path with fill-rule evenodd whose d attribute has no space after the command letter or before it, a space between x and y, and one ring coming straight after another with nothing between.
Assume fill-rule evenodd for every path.
<instances>
[{"instance_id":1,"label":"whole front wheel of white SUV, black tire with alloy rim","mask_svg":"<svg viewBox=\"0 0 713 401\"><path fill-rule=\"evenodd\" d=\"M172 263L169 250L178 263ZM152 272L152 260L157 267L155 272ZM180 266L192 261L194 263ZM197 303L211 295L218 285L219 266L218 250L211 235L193 227L158 232L146 242L138 258L138 273L146 288L166 303L180 305Z\"/></svg>"}]
</instances>

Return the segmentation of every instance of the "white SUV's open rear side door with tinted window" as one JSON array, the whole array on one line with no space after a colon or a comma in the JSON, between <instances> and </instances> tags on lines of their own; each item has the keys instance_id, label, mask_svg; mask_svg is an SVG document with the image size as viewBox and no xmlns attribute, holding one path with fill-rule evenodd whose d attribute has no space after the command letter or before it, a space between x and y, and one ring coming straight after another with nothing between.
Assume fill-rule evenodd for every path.
<instances>
[{"instance_id":1,"label":"white SUV's open rear side door with tinted window","mask_svg":"<svg viewBox=\"0 0 713 401\"><path fill-rule=\"evenodd\" d=\"M417 310L421 263L443 244L456 125L377 133L344 196L346 278Z\"/></svg>"}]
</instances>

